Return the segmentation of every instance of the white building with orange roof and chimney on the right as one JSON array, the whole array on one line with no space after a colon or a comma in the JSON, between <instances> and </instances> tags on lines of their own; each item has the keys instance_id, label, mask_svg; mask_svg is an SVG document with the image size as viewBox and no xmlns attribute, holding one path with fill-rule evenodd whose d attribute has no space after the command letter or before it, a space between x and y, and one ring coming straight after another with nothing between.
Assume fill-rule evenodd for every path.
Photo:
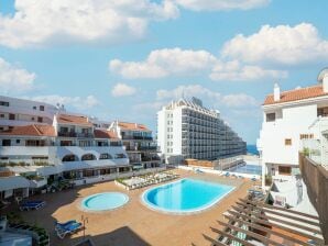
<instances>
[{"instance_id":1,"label":"white building with orange roof and chimney on the right","mask_svg":"<svg viewBox=\"0 0 328 246\"><path fill-rule=\"evenodd\" d=\"M298 153L311 143L320 160L327 158L328 70L322 70L318 85L281 92L277 85L263 103L263 123L258 139L263 179L288 180L298 170ZM326 146L326 147L325 147ZM325 149L324 149L325 147ZM263 180L264 182L264 180Z\"/></svg>"}]
</instances>

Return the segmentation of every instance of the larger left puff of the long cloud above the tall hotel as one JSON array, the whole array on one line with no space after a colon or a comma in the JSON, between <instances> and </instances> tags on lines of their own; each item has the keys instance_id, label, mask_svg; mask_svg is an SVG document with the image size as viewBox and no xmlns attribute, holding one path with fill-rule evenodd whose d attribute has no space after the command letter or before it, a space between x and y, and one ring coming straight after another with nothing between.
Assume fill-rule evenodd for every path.
<instances>
[{"instance_id":1,"label":"larger left puff of the long cloud above the tall hotel","mask_svg":"<svg viewBox=\"0 0 328 246\"><path fill-rule=\"evenodd\" d=\"M164 48L151 52L144 62L113 59L109 68L129 79L164 78L204 72L216 62L217 58L206 51Z\"/></svg>"}]
</instances>

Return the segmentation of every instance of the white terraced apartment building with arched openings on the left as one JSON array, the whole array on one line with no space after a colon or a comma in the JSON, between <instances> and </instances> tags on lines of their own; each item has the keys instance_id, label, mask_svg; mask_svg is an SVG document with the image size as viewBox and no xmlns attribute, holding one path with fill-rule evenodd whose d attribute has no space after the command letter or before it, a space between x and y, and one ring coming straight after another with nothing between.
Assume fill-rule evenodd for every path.
<instances>
[{"instance_id":1,"label":"white terraced apartment building with arched openings on the left","mask_svg":"<svg viewBox=\"0 0 328 246\"><path fill-rule=\"evenodd\" d=\"M121 139L92 119L42 102L0 101L0 199L26 197L50 181L84 185L132 171Z\"/></svg>"}]
</instances>

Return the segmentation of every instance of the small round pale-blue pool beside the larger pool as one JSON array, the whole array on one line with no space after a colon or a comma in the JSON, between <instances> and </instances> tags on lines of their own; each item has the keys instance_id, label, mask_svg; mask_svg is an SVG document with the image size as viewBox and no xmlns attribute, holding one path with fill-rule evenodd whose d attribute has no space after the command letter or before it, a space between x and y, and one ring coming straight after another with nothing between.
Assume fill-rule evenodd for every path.
<instances>
[{"instance_id":1,"label":"small round pale-blue pool beside the larger pool","mask_svg":"<svg viewBox=\"0 0 328 246\"><path fill-rule=\"evenodd\" d=\"M103 192L89 195L81 201L81 206L88 211L113 210L124 205L129 197L120 192Z\"/></svg>"}]
</instances>

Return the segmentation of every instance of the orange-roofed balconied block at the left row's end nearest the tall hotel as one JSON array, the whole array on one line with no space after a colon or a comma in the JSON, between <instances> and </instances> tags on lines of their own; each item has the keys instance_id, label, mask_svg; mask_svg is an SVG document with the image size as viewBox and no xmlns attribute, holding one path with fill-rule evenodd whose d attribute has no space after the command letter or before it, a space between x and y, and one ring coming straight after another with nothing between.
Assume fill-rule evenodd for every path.
<instances>
[{"instance_id":1,"label":"orange-roofed balconied block at the left row's end nearest the tall hotel","mask_svg":"<svg viewBox=\"0 0 328 246\"><path fill-rule=\"evenodd\" d=\"M133 169L161 167L152 131L143 124L114 121L109 127L122 141Z\"/></svg>"}]
</instances>

